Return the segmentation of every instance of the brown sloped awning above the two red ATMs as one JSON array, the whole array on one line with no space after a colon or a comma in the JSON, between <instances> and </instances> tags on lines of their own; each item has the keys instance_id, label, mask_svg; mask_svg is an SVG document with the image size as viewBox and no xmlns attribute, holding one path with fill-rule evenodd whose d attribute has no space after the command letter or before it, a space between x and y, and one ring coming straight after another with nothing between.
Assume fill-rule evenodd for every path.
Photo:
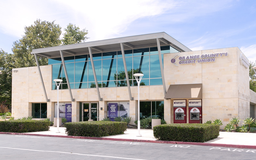
<instances>
[{"instance_id":1,"label":"brown sloped awning above the two red ATMs","mask_svg":"<svg viewBox=\"0 0 256 160\"><path fill-rule=\"evenodd\" d=\"M202 99L202 84L174 84L170 85L165 99L198 98Z\"/></svg>"}]
</instances>

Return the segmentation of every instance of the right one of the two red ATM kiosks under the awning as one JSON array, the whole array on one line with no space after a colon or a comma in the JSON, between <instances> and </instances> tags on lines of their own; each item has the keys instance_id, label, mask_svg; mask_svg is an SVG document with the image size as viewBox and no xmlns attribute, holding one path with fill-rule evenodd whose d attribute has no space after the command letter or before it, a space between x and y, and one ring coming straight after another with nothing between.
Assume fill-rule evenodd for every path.
<instances>
[{"instance_id":1,"label":"right one of the two red ATM kiosks under the awning","mask_svg":"<svg viewBox=\"0 0 256 160\"><path fill-rule=\"evenodd\" d=\"M188 123L202 123L202 100L188 100Z\"/></svg>"}]
</instances>

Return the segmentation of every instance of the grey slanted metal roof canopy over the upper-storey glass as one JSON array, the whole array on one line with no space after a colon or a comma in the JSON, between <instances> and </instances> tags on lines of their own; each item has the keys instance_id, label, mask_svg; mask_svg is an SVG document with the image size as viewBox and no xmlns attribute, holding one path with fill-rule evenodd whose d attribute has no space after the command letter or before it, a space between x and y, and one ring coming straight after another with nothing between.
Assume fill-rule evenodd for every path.
<instances>
[{"instance_id":1,"label":"grey slanted metal roof canopy over the upper-storey glass","mask_svg":"<svg viewBox=\"0 0 256 160\"><path fill-rule=\"evenodd\" d=\"M60 45L55 47L33 49L31 54L46 58L60 58L60 51L64 57L89 54L88 47L91 47L92 54L99 52L121 51L120 43L124 44L124 50L157 46L156 38L159 38L160 46L171 45L180 52L191 51L165 32L152 33L138 36L127 36L100 41L84 42L79 44Z\"/></svg>"}]
</instances>

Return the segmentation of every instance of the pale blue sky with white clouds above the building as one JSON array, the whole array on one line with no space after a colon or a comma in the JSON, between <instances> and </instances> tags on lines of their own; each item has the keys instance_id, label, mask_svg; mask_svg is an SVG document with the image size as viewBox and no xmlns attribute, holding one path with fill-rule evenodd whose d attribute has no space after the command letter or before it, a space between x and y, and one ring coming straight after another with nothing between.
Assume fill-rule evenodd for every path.
<instances>
[{"instance_id":1,"label":"pale blue sky with white clouds above the building","mask_svg":"<svg viewBox=\"0 0 256 160\"><path fill-rule=\"evenodd\" d=\"M238 47L256 60L256 0L0 0L0 48L37 19L88 30L86 42L165 32L192 51ZM64 33L64 32L62 32Z\"/></svg>"}]
</instances>

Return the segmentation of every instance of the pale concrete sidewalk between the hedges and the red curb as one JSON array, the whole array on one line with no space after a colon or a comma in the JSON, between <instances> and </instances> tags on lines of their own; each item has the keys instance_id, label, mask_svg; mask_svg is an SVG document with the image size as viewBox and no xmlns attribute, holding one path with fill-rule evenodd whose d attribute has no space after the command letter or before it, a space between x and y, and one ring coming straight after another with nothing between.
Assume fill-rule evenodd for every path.
<instances>
[{"instance_id":1,"label":"pale concrete sidewalk between the hedges and the red curb","mask_svg":"<svg viewBox=\"0 0 256 160\"><path fill-rule=\"evenodd\" d=\"M191 145L204 145L204 146L220 146L220 147L235 147L235 148L255 148L256 149L256 133L240 133L240 132L220 132L220 136L216 139L209 140L204 143L193 142L170 142L170 141L158 141L153 135L151 129L140 129L141 137L137 137L137 129L127 129L124 134L107 136L102 138L92 137L74 137L67 136L65 133L65 127L59 127L60 133L56 133L57 127L50 127L50 131L44 132L30 132L22 133L26 135L41 135L51 137L70 137L70 138L90 138L90 139L104 139L104 140L117 140L117 141L140 141L140 142L161 142L161 143L173 143L173 144L191 144Z\"/></svg>"}]
</instances>

